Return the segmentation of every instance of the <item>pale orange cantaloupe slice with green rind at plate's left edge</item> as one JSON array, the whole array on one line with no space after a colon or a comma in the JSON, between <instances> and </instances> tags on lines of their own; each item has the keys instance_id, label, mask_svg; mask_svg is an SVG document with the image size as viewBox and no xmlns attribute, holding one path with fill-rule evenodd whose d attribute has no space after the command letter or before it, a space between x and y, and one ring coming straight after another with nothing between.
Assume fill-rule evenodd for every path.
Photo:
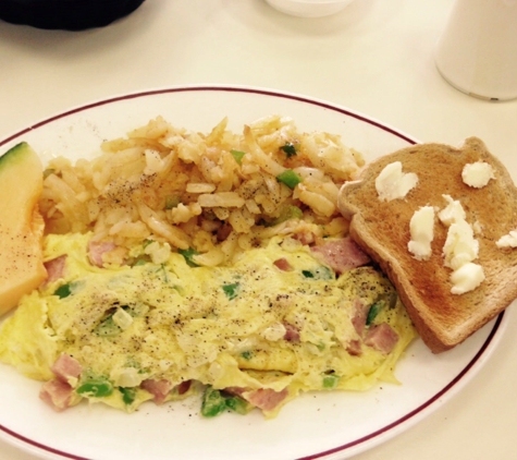
<instances>
[{"instance_id":1,"label":"pale orange cantaloupe slice with green rind at plate's left edge","mask_svg":"<svg viewBox=\"0 0 517 460\"><path fill-rule=\"evenodd\" d=\"M41 161L28 144L0 157L0 315L47 278L38 211L42 183Z\"/></svg>"}]
</instances>

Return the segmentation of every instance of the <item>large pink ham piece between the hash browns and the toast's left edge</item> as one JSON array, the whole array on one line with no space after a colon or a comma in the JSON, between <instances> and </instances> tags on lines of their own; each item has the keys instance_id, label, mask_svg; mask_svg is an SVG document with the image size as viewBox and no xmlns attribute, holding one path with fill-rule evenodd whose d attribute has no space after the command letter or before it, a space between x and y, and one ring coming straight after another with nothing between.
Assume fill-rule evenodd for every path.
<instances>
[{"instance_id":1,"label":"large pink ham piece between the hash browns and the toast's left edge","mask_svg":"<svg viewBox=\"0 0 517 460\"><path fill-rule=\"evenodd\" d=\"M328 241L310 249L316 257L337 274L370 262L370 257L349 237Z\"/></svg>"}]
</instances>

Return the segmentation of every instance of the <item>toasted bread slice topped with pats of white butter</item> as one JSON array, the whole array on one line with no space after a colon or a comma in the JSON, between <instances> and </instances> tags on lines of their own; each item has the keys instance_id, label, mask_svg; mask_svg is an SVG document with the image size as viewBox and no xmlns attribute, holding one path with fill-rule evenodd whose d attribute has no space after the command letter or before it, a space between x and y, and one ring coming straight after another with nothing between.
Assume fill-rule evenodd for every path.
<instances>
[{"instance_id":1,"label":"toasted bread slice topped with pats of white butter","mask_svg":"<svg viewBox=\"0 0 517 460\"><path fill-rule=\"evenodd\" d=\"M517 298L517 189L479 138L381 157L343 185L338 207L434 353Z\"/></svg>"}]
</instances>

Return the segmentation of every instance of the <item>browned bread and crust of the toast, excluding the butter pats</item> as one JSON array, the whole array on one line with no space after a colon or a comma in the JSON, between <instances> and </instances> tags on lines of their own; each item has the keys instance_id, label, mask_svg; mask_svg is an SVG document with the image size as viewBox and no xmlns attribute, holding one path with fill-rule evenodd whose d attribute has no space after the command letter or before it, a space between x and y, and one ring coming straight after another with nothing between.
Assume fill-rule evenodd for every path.
<instances>
[{"instance_id":1,"label":"browned bread and crust of the toast, excluding the butter pats","mask_svg":"<svg viewBox=\"0 0 517 460\"><path fill-rule=\"evenodd\" d=\"M404 172L419 182L404 198L381 202L376 178L382 169L401 161ZM492 165L495 179L473 189L464 183L466 164ZM447 227L434 223L432 255L417 261L407 250L409 221L421 206L443 209L443 195L458 199L466 220L480 231L479 257L485 279L473 291L452 294L451 268L444 266L442 249ZM495 242L517 229L517 189L504 165L477 137L460 148L443 144L418 144L367 165L359 179L343 185L338 207L350 218L350 235L376 261L398 291L420 337L434 352L463 342L517 298L517 249L500 249Z\"/></svg>"}]
</instances>

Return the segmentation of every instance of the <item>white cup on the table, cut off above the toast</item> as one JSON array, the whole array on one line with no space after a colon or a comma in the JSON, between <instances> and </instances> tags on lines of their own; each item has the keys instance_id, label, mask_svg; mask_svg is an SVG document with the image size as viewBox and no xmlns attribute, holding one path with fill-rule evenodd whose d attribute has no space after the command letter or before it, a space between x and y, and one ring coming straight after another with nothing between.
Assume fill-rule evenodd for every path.
<instances>
[{"instance_id":1,"label":"white cup on the table, cut off above the toast","mask_svg":"<svg viewBox=\"0 0 517 460\"><path fill-rule=\"evenodd\" d=\"M517 0L456 0L434 58L442 76L470 96L517 98Z\"/></svg>"}]
</instances>

